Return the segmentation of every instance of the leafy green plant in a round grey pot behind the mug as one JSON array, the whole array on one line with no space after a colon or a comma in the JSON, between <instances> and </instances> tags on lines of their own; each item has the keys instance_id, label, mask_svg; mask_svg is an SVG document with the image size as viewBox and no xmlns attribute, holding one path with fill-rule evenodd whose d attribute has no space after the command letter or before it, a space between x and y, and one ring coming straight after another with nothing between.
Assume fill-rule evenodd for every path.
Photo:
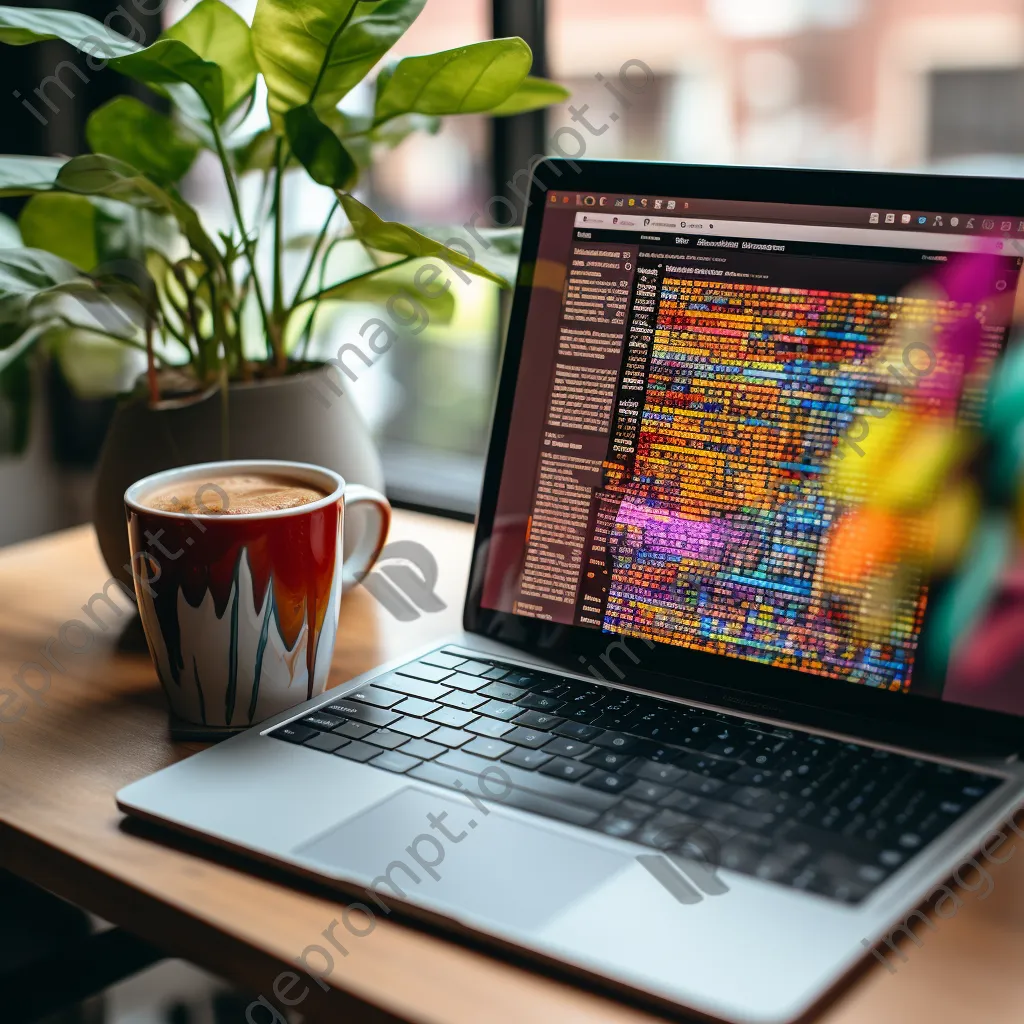
<instances>
[{"instance_id":1,"label":"leafy green plant in a round grey pot behind the mug","mask_svg":"<svg viewBox=\"0 0 1024 1024\"><path fill-rule=\"evenodd\" d=\"M443 323L456 274L508 287L492 258L507 266L507 238L471 252L451 234L384 221L353 195L375 148L436 131L441 117L518 114L567 95L529 75L532 54L517 38L386 62L425 3L259 0L249 26L221 0L201 0L148 46L83 14L0 7L0 42L61 39L90 69L142 82L171 109L120 96L88 120L91 154L0 158L0 196L30 197L23 246L0 249L0 385L24 416L26 360L42 344L83 391L128 391L96 485L97 534L115 573L128 561L122 494L161 469L285 458L381 485L362 421L325 379L330 360L307 355L325 306L403 298ZM372 75L372 110L340 110ZM269 126L246 132L260 80ZM226 184L227 230L209 230L178 189L204 150ZM311 239L285 237L293 170L334 193ZM247 175L260 186L255 212L243 202ZM357 255L339 270L342 243ZM303 268L287 274L296 245L306 247ZM380 329L370 339L375 353L387 343ZM83 349L91 360L75 358ZM97 353L110 364L98 372ZM12 433L24 440L24 429Z\"/></svg>"}]
</instances>

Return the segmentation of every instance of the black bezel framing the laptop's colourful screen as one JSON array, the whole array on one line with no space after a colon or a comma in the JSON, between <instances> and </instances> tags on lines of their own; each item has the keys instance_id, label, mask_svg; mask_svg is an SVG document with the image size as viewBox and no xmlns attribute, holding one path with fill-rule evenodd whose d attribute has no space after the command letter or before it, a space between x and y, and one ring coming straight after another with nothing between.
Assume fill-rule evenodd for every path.
<instances>
[{"instance_id":1,"label":"black bezel framing the laptop's colourful screen","mask_svg":"<svg viewBox=\"0 0 1024 1024\"><path fill-rule=\"evenodd\" d=\"M965 731L993 739L1024 739L1024 715L985 711L913 693L896 694L844 680L772 668L738 657L708 654L675 644L644 641L630 636L553 624L481 604L486 556L494 530L502 467L509 439L519 364L530 300L532 266L541 236L545 196L559 193L610 193L636 196L685 196L709 200L742 200L798 205L915 209L937 213L979 211L1024 217L1024 188L1006 178L940 176L897 172L792 170L695 166L664 163L575 161L546 159L532 170L519 274L495 402L470 583L464 609L468 632L519 647L574 672L596 667L609 682L629 683L642 677L644 689L668 696L721 694L757 696L798 702L823 712L839 712L916 730ZM609 646L624 640L610 658ZM602 655L605 655L602 658ZM639 660L637 660L639 659ZM636 663L636 664L634 664ZM620 674L623 674L621 676ZM617 677L617 678L616 678Z\"/></svg>"}]
</instances>

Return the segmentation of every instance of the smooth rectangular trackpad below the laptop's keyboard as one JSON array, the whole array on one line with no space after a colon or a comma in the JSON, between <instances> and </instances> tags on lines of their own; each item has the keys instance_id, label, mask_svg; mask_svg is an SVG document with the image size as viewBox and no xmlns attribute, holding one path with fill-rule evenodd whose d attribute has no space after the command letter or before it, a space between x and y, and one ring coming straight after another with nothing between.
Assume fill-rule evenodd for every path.
<instances>
[{"instance_id":1,"label":"smooth rectangular trackpad below the laptop's keyboard","mask_svg":"<svg viewBox=\"0 0 1024 1024\"><path fill-rule=\"evenodd\" d=\"M468 798L406 788L294 852L385 904L397 896L521 929L539 928L631 862L484 806L489 813Z\"/></svg>"}]
</instances>

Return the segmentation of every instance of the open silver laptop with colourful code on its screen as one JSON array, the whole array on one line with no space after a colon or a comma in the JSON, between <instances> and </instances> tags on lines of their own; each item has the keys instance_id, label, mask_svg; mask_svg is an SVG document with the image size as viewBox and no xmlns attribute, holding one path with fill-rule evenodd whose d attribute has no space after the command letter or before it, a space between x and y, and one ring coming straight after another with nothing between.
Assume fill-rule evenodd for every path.
<instances>
[{"instance_id":1,"label":"open silver laptop with colourful code on its screen","mask_svg":"<svg viewBox=\"0 0 1024 1024\"><path fill-rule=\"evenodd\" d=\"M1022 799L955 570L891 501L854 528L886 431L980 422L1019 182L544 160L528 200L464 629L118 804L354 896L346 948L411 914L792 1021Z\"/></svg>"}]
</instances>

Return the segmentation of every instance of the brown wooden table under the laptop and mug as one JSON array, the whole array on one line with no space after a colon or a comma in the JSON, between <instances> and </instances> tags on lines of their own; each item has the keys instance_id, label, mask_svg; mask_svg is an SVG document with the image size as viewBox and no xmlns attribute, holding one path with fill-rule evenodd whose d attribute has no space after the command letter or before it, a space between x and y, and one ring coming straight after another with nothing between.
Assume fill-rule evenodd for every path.
<instances>
[{"instance_id":1,"label":"brown wooden table under the laptop and mug","mask_svg":"<svg viewBox=\"0 0 1024 1024\"><path fill-rule=\"evenodd\" d=\"M336 682L458 626L471 536L469 526L442 519L395 517L392 540L416 539L437 558L447 608L398 623L365 591L352 593L342 607ZM0 866L276 1001L273 979L316 941L339 902L224 853L124 827L115 792L200 744L170 741L148 657L119 651L119 624L94 630L91 644L76 627L65 629L72 646L88 647L80 653L59 643L63 624L83 617L83 604L106 580L88 528L0 552ZM47 648L62 671L47 663ZM12 701L3 688L27 662L48 666L49 688L38 701ZM39 673L24 678L42 686ZM1018 1024L1024 852L993 878L987 900L967 894L955 918L926 931L921 948L907 948L909 959L896 974L872 964L818 1020ZM436 1024L659 1019L394 921L381 920L347 958L338 957L330 982L330 992L311 986L301 1007L307 1017ZM256 1017L257 1024L265 1019Z\"/></svg>"}]
</instances>

